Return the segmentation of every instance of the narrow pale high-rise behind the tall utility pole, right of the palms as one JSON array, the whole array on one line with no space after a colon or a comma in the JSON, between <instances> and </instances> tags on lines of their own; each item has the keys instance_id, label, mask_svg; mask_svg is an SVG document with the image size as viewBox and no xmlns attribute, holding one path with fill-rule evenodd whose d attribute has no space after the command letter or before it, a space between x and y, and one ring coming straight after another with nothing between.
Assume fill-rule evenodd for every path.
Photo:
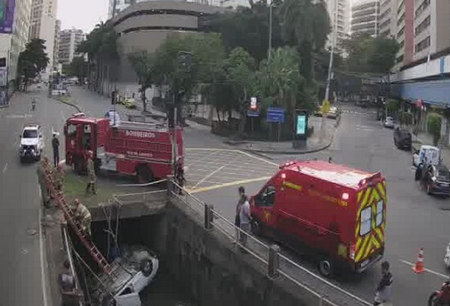
<instances>
[{"instance_id":1,"label":"narrow pale high-rise behind the tall utility pole, right of the palms","mask_svg":"<svg viewBox=\"0 0 450 306\"><path fill-rule=\"evenodd\" d=\"M343 53L342 41L350 35L350 0L325 0L325 5L332 29L325 47L331 47L334 42L337 52ZM336 32L336 37L333 37L333 31Z\"/></svg>"}]
</instances>

